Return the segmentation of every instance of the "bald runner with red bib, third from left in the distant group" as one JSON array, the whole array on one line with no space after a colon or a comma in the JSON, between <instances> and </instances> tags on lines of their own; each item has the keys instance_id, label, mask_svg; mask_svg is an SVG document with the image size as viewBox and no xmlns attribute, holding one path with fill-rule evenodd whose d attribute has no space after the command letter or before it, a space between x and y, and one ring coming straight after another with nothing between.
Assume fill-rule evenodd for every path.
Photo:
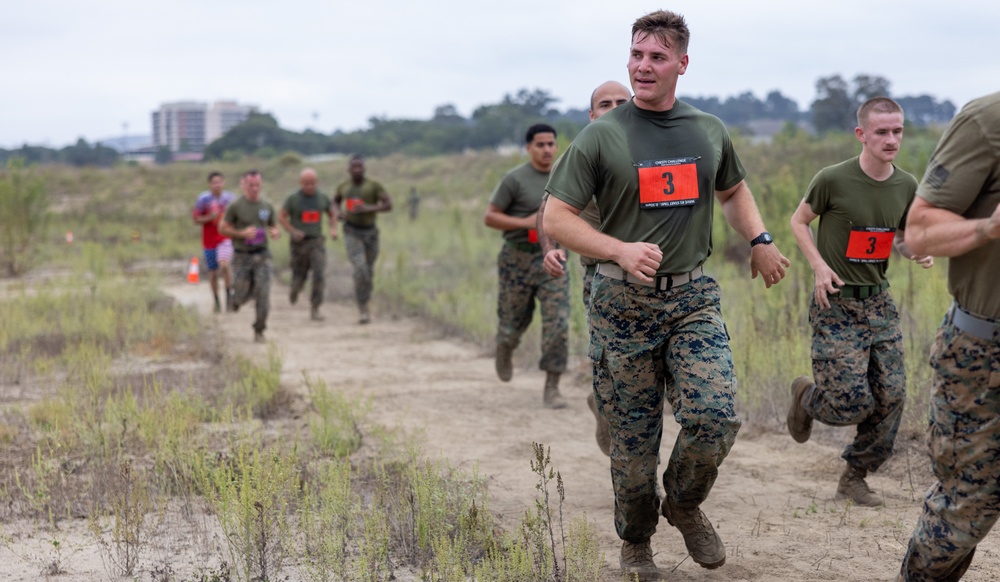
<instances>
[{"instance_id":1,"label":"bald runner with red bib, third from left in the distant group","mask_svg":"<svg viewBox=\"0 0 1000 582\"><path fill-rule=\"evenodd\" d=\"M299 174L299 190L285 199L278 213L278 222L291 238L292 290L288 295L292 305L298 301L305 287L306 277L312 271L310 316L313 321L323 321L319 307L323 304L326 288L326 245L323 237L323 215L330 220L330 238L337 239L337 214L330 198L316 187L316 171L306 168Z\"/></svg>"}]
</instances>

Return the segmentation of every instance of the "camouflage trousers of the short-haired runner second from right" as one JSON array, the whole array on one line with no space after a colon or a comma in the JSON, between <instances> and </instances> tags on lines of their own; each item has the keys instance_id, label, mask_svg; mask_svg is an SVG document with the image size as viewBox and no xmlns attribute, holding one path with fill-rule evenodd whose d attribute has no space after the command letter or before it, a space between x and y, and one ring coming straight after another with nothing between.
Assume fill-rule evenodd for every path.
<instances>
[{"instance_id":1,"label":"camouflage trousers of the short-haired runner second from right","mask_svg":"<svg viewBox=\"0 0 1000 582\"><path fill-rule=\"evenodd\" d=\"M875 471L892 455L906 396L896 305L888 292L865 300L831 297L828 309L813 299L809 320L816 388L803 405L824 424L857 425L854 442L841 456Z\"/></svg>"}]
</instances>

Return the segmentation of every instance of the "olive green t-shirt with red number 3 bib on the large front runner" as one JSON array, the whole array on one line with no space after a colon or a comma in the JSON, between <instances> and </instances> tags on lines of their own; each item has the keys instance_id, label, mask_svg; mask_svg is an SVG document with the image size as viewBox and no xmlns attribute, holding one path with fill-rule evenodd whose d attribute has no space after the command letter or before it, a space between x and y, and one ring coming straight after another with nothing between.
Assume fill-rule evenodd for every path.
<instances>
[{"instance_id":1,"label":"olive green t-shirt with red number 3 bib on the large front runner","mask_svg":"<svg viewBox=\"0 0 1000 582\"><path fill-rule=\"evenodd\" d=\"M597 204L601 232L663 252L659 275L684 273L712 254L715 192L743 180L729 132L677 101L648 111L630 101L590 123L549 178L549 194L583 209Z\"/></svg>"}]
</instances>

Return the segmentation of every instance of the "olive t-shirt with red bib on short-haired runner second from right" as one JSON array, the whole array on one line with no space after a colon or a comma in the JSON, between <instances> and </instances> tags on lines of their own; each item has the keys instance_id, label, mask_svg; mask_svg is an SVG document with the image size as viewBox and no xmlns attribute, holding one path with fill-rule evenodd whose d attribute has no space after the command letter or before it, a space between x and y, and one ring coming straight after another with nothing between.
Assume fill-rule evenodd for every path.
<instances>
[{"instance_id":1,"label":"olive t-shirt with red bib on short-haired runner second from right","mask_svg":"<svg viewBox=\"0 0 1000 582\"><path fill-rule=\"evenodd\" d=\"M917 179L893 168L879 182L853 157L820 170L806 190L806 204L819 215L816 248L847 285L884 282L893 241L903 236Z\"/></svg>"}]
</instances>

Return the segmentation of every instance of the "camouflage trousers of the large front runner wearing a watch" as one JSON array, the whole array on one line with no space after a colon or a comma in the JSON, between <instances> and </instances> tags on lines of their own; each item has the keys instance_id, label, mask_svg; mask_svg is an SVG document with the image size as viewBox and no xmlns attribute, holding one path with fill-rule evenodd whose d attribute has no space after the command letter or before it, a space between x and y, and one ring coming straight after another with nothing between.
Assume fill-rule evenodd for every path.
<instances>
[{"instance_id":1,"label":"camouflage trousers of the large front runner wearing a watch","mask_svg":"<svg viewBox=\"0 0 1000 582\"><path fill-rule=\"evenodd\" d=\"M615 527L630 542L656 531L656 464L665 398L681 432L664 473L679 507L708 496L740 427L719 291L703 277L666 292L596 276L591 287L594 393L611 433Z\"/></svg>"}]
</instances>

